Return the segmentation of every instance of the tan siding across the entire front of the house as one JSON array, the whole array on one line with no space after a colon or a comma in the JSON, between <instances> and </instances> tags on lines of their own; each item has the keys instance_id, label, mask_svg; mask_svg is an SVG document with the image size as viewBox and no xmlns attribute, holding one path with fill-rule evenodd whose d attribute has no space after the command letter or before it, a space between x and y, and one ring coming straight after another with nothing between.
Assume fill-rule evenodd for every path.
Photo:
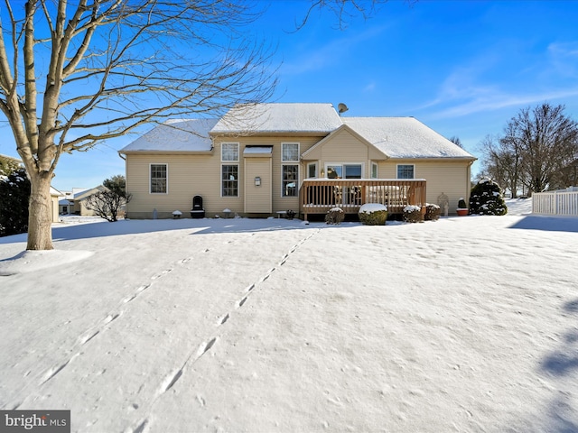
<instances>
[{"instance_id":1,"label":"tan siding across the entire front of the house","mask_svg":"<svg viewBox=\"0 0 578 433\"><path fill-rule=\"evenodd\" d=\"M261 176L262 187L270 190L271 213L292 209L299 210L299 197L283 197L282 195L282 143L299 143L299 152L311 149L303 161L299 162L299 184L307 176L307 164L318 162L318 173L331 163L357 163L363 166L362 177L370 178L371 161L378 163L378 178L396 179L397 164L414 164L415 179L427 181L426 199L437 203L440 194L445 193L450 198L450 213L455 212L459 198L468 198L470 193L470 161L463 160L417 160L388 159L373 146L368 145L347 128L326 137L322 135L270 135L253 137L215 137L214 149L211 153L171 153L171 152L127 152L126 153L126 189L133 195L127 205L128 217L151 218L154 209L157 217L172 217L172 211L180 210L183 217L190 217L192 198L200 195L207 217L223 215L223 209L228 208L233 213L244 215L257 213L255 209L266 210L265 196L247 197L245 190L254 187L255 176ZM315 144L322 141L319 146ZM239 143L238 161L221 161L220 143ZM273 146L271 158L254 158L243 155L247 145ZM313 148L313 146L315 146ZM312 149L313 148L313 149ZM270 187L266 187L266 176L261 169L257 173L252 168L247 170L247 161L267 161ZM151 194L150 164L167 164L168 182L167 194ZM238 197L221 197L221 164L238 164ZM266 188L264 188L266 187ZM269 189L270 188L270 189ZM254 191L255 192L255 191ZM252 200L256 200L253 202ZM253 207L255 206L255 207Z\"/></svg>"}]
</instances>

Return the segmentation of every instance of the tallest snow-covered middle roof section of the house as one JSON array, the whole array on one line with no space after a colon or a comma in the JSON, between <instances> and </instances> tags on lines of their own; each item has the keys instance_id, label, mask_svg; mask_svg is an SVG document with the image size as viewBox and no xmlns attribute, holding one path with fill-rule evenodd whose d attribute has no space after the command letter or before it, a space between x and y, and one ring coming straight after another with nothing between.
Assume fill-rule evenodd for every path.
<instances>
[{"instance_id":1,"label":"tallest snow-covered middle roof section of the house","mask_svg":"<svg viewBox=\"0 0 578 433\"><path fill-rule=\"evenodd\" d=\"M255 104L229 110L211 134L329 134L340 125L331 104Z\"/></svg>"}]
</instances>

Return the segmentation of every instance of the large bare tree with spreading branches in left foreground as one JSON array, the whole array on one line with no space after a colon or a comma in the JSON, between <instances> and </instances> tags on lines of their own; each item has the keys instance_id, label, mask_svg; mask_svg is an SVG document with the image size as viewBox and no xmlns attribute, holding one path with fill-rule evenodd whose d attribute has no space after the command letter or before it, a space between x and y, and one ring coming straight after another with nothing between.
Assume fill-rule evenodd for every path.
<instances>
[{"instance_id":1,"label":"large bare tree with spreading branches in left foreground","mask_svg":"<svg viewBox=\"0 0 578 433\"><path fill-rule=\"evenodd\" d=\"M63 152L272 95L270 51L247 32L257 17L228 0L5 0L0 110L32 184L27 249L52 248Z\"/></svg>"}]
</instances>

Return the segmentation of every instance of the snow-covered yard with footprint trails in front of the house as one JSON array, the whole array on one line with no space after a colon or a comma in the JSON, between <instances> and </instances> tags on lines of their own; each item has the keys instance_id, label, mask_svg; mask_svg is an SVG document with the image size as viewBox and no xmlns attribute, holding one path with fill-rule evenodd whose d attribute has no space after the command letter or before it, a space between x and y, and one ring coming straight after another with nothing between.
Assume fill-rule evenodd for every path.
<instances>
[{"instance_id":1,"label":"snow-covered yard with footprint trails in front of the house","mask_svg":"<svg viewBox=\"0 0 578 433\"><path fill-rule=\"evenodd\" d=\"M79 432L578 431L578 218L0 238L0 408Z\"/></svg>"}]
</instances>

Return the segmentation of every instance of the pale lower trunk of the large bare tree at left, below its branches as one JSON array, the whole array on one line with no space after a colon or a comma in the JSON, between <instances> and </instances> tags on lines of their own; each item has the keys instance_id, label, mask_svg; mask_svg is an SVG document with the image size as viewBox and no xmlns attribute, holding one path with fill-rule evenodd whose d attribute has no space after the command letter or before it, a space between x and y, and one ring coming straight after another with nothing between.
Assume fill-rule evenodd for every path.
<instances>
[{"instance_id":1,"label":"pale lower trunk of the large bare tree at left, below its branches","mask_svg":"<svg viewBox=\"0 0 578 433\"><path fill-rule=\"evenodd\" d=\"M51 173L30 176L27 250L52 249Z\"/></svg>"}]
</instances>

